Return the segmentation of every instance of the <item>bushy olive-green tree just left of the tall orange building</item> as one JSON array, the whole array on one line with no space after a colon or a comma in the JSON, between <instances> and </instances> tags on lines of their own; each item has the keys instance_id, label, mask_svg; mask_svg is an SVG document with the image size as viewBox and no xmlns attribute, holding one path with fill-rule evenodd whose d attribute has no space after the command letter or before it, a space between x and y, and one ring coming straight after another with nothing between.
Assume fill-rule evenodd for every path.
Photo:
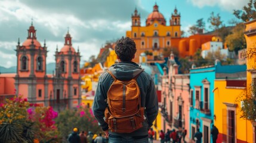
<instances>
[{"instance_id":1,"label":"bushy olive-green tree just left of the tall orange building","mask_svg":"<svg viewBox=\"0 0 256 143\"><path fill-rule=\"evenodd\" d=\"M243 23L236 24L232 30L232 34L226 37L226 43L230 51L238 54L239 49L246 48L245 36L243 35L245 25Z\"/></svg>"}]
</instances>

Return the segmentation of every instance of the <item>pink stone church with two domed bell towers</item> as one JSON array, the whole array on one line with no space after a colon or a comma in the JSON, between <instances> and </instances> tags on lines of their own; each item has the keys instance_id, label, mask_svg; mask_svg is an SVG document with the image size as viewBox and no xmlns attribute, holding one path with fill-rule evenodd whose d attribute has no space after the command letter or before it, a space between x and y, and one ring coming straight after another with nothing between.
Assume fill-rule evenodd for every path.
<instances>
[{"instance_id":1,"label":"pink stone church with two domed bell towers","mask_svg":"<svg viewBox=\"0 0 256 143\"><path fill-rule=\"evenodd\" d=\"M15 49L17 71L0 74L0 102L5 98L23 95L29 102L52 106L55 110L73 108L81 102L80 52L72 46L72 37L67 32L64 46L55 51L55 73L47 74L47 46L36 38L33 24L27 39ZM53 56L53 55L50 55ZM15 89L14 89L15 88ZM14 92L16 91L16 92Z\"/></svg>"}]
</instances>

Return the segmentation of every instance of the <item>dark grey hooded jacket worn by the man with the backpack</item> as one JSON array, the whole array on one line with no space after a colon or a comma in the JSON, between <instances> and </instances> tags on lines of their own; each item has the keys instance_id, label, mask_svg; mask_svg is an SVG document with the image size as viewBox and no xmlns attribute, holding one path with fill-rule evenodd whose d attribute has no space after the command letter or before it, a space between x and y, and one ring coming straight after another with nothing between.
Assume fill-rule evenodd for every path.
<instances>
[{"instance_id":1,"label":"dark grey hooded jacket worn by the man with the backpack","mask_svg":"<svg viewBox=\"0 0 256 143\"><path fill-rule=\"evenodd\" d=\"M143 71L138 64L133 62L113 64L109 70L119 80L130 80ZM113 81L114 79L109 73L105 72L101 74L100 79L98 80L94 102L92 104L93 114L103 130L108 128L107 123L104 122L104 110L107 107L107 102L105 100L107 99L107 91ZM144 115L146 116L146 120L143 122L143 127L131 133L109 132L111 135L146 136L147 130L153 125L153 121L158 115L158 98L156 95L155 83L153 82L152 77L145 71L141 72L137 77L137 83L140 87L141 106L145 107Z\"/></svg>"}]
</instances>

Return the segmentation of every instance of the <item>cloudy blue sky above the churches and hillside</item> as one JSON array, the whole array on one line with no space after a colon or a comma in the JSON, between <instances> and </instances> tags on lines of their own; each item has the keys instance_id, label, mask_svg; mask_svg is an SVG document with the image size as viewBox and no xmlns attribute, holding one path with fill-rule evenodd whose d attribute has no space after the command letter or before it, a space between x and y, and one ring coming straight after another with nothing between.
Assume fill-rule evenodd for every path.
<instances>
[{"instance_id":1,"label":"cloudy blue sky above the churches and hillside","mask_svg":"<svg viewBox=\"0 0 256 143\"><path fill-rule=\"evenodd\" d=\"M14 49L18 38L21 43L26 40L32 18L41 45L46 39L47 63L54 62L56 46L60 49L64 45L67 27L73 47L79 46L84 62L91 55L98 55L106 41L125 36L131 29L135 7L144 26L155 2L166 21L176 6L181 13L181 29L187 31L199 18L207 23L212 11L220 13L227 25L235 18L233 9L242 8L249 0L0 0L0 66L16 66Z\"/></svg>"}]
</instances>

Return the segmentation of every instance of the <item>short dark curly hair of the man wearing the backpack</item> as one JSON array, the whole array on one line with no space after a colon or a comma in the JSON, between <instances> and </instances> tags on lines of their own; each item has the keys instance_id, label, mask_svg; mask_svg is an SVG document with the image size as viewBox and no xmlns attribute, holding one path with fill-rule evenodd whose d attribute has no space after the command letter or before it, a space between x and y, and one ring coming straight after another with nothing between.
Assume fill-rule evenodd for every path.
<instances>
[{"instance_id":1,"label":"short dark curly hair of the man wearing the backpack","mask_svg":"<svg viewBox=\"0 0 256 143\"><path fill-rule=\"evenodd\" d=\"M135 42L131 38L122 37L116 41L115 52L121 61L131 61L136 51Z\"/></svg>"}]
</instances>

